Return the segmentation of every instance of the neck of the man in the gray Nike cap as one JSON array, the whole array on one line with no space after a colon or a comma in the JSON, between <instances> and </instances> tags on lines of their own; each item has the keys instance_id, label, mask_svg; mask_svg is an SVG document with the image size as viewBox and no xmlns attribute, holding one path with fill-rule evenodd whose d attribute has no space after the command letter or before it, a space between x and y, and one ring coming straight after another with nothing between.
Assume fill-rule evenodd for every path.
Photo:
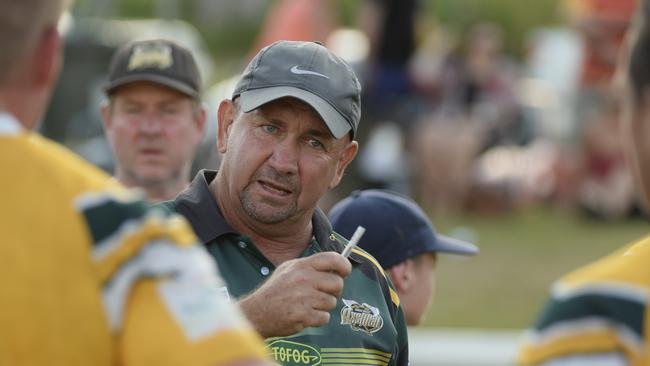
<instances>
[{"instance_id":1,"label":"neck of the man in the gray Nike cap","mask_svg":"<svg viewBox=\"0 0 650 366\"><path fill-rule=\"evenodd\" d=\"M295 259L309 246L312 238L311 214L305 214L296 220L266 224L247 215L238 198L220 185L219 177L210 183L210 191L217 201L221 214L228 224L242 235L251 238L255 246L276 266L290 259Z\"/></svg>"}]
</instances>

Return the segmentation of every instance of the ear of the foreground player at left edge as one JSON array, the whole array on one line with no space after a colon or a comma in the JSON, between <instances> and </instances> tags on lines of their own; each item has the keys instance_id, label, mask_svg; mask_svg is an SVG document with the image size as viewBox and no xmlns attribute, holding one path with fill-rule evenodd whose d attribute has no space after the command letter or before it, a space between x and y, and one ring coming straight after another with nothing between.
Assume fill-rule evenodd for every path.
<instances>
[{"instance_id":1,"label":"ear of the foreground player at left edge","mask_svg":"<svg viewBox=\"0 0 650 366\"><path fill-rule=\"evenodd\" d=\"M35 50L32 83L36 88L50 88L57 80L61 68L61 36L56 27L47 28Z\"/></svg>"}]
</instances>

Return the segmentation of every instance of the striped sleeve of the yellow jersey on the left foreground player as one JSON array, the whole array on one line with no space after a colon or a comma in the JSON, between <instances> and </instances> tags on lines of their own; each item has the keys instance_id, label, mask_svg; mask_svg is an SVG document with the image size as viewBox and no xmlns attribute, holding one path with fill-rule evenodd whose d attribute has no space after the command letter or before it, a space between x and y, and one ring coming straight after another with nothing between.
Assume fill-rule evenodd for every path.
<instances>
[{"instance_id":1,"label":"striped sleeve of the yellow jersey on the left foreground player","mask_svg":"<svg viewBox=\"0 0 650 366\"><path fill-rule=\"evenodd\" d=\"M119 191L85 195L77 207L120 364L265 359L261 339L224 296L214 261L180 216Z\"/></svg>"}]
</instances>

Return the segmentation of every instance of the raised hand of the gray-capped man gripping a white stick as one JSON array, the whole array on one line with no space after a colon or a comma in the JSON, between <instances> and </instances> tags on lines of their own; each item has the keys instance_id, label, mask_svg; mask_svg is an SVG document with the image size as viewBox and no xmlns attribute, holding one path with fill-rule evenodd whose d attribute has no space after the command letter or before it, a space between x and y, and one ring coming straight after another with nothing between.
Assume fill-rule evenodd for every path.
<instances>
[{"instance_id":1,"label":"raised hand of the gray-capped man gripping a white stick","mask_svg":"<svg viewBox=\"0 0 650 366\"><path fill-rule=\"evenodd\" d=\"M329 322L351 271L350 262L334 252L292 259L239 305L263 338L295 334Z\"/></svg>"}]
</instances>

